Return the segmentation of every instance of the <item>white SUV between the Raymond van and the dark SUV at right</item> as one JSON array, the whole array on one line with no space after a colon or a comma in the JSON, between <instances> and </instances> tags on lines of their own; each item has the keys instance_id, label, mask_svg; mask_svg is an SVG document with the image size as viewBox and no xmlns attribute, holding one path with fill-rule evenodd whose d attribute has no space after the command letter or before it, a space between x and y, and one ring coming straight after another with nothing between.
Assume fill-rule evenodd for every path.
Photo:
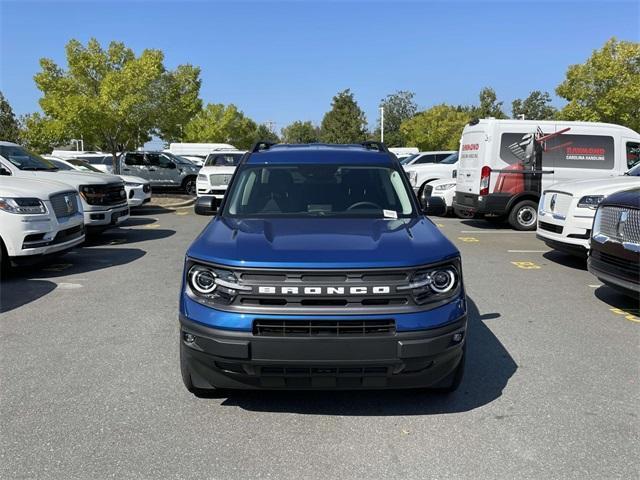
<instances>
[{"instance_id":1,"label":"white SUV between the Raymond van and the dark SUV at right","mask_svg":"<svg viewBox=\"0 0 640 480\"><path fill-rule=\"evenodd\" d=\"M640 187L640 164L620 177L556 183L542 193L536 237L555 250L586 257L598 204L634 187Z\"/></svg>"}]
</instances>

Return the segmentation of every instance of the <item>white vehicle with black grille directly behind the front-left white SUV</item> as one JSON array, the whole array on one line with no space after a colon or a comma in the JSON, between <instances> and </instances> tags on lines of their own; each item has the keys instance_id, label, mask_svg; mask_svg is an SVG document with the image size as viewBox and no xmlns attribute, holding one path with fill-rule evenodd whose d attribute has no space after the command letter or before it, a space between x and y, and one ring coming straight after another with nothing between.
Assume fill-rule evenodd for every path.
<instances>
[{"instance_id":1,"label":"white vehicle with black grille directly behind the front-left white SUV","mask_svg":"<svg viewBox=\"0 0 640 480\"><path fill-rule=\"evenodd\" d=\"M124 182L116 176L61 172L49 160L10 142L0 142L0 175L66 183L80 193L85 226L93 231L129 218Z\"/></svg>"}]
</instances>

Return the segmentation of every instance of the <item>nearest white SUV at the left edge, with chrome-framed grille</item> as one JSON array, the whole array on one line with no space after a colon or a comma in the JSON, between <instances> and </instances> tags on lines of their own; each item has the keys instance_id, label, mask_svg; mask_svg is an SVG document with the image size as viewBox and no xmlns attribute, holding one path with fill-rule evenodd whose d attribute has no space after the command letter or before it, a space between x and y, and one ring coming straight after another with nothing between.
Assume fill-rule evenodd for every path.
<instances>
[{"instance_id":1,"label":"nearest white SUV at the left edge, with chrome-framed grille","mask_svg":"<svg viewBox=\"0 0 640 480\"><path fill-rule=\"evenodd\" d=\"M82 203L69 185L0 176L0 267L81 244L83 224Z\"/></svg>"}]
</instances>

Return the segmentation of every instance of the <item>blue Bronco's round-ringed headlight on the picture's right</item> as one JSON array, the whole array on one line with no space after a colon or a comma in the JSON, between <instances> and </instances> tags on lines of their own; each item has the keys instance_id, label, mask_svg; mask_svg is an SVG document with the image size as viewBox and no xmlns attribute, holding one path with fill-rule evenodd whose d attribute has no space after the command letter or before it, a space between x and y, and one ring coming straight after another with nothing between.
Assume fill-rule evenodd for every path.
<instances>
[{"instance_id":1,"label":"blue Bronco's round-ringed headlight on the picture's right","mask_svg":"<svg viewBox=\"0 0 640 480\"><path fill-rule=\"evenodd\" d=\"M409 285L397 288L400 291L410 290L414 301L422 305L457 294L460 283L458 268L449 264L420 270L413 275Z\"/></svg>"}]
</instances>

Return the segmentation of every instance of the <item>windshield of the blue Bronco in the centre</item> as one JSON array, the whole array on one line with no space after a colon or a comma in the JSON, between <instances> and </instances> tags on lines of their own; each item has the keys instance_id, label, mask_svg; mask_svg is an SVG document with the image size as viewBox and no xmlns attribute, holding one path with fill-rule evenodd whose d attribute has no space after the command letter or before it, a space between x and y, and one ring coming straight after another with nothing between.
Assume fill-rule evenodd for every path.
<instances>
[{"instance_id":1,"label":"windshield of the blue Bronco in the centre","mask_svg":"<svg viewBox=\"0 0 640 480\"><path fill-rule=\"evenodd\" d=\"M233 182L225 215L409 217L414 209L404 178L381 166L247 166Z\"/></svg>"}]
</instances>

